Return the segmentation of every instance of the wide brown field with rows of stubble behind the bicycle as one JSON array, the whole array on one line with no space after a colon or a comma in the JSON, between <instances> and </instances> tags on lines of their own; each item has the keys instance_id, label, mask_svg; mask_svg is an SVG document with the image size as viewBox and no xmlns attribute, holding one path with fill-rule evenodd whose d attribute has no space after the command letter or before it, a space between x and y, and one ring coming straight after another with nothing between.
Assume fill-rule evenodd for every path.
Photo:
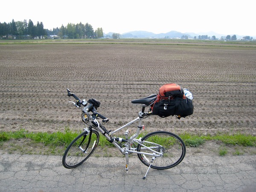
<instances>
[{"instance_id":1,"label":"wide brown field with rows of stubble behind the bicycle","mask_svg":"<svg viewBox=\"0 0 256 192\"><path fill-rule=\"evenodd\" d=\"M98 99L113 130L137 117L132 99L171 82L193 93L194 114L152 116L146 130L256 135L255 44L160 40L0 41L0 131L81 130L67 88Z\"/></svg>"}]
</instances>

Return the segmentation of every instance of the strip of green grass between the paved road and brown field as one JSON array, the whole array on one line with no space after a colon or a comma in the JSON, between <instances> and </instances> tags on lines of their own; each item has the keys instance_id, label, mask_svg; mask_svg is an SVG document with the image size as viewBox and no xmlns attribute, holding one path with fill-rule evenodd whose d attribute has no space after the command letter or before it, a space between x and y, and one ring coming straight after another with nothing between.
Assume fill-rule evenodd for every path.
<instances>
[{"instance_id":1,"label":"strip of green grass between the paved road and brown field","mask_svg":"<svg viewBox=\"0 0 256 192\"><path fill-rule=\"evenodd\" d=\"M81 132L71 131L69 128L65 128L64 132L57 131L55 133L47 132L29 132L24 129L19 131L0 131L0 142L5 142L12 139L23 139L29 138L36 143L44 143L44 145L50 146L67 146L71 141L76 138ZM179 135L184 141L186 146L198 147L202 145L207 140L219 140L227 145L240 145L240 146L256 146L256 137L252 135L245 134L218 134L215 136L200 136L193 135L189 133L184 133ZM140 134L139 137L143 137ZM99 146L113 146L108 140L102 135L100 136Z\"/></svg>"}]
</instances>

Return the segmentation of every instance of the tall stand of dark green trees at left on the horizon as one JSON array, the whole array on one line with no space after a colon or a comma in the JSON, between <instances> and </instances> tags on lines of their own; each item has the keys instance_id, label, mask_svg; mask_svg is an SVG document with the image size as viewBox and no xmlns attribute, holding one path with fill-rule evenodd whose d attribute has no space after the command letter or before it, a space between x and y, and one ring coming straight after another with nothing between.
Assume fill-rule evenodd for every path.
<instances>
[{"instance_id":1,"label":"tall stand of dark green trees at left on the horizon","mask_svg":"<svg viewBox=\"0 0 256 192\"><path fill-rule=\"evenodd\" d=\"M60 28L53 28L53 30L44 29L42 22L37 22L36 25L29 20L27 23L24 21L17 21L9 23L0 23L0 38L6 39L35 39L35 38L47 38L48 35L58 35L61 38L102 38L103 30L98 28L95 31L93 27L86 23L85 25L80 23L72 24L68 23L67 26L61 26Z\"/></svg>"}]
</instances>

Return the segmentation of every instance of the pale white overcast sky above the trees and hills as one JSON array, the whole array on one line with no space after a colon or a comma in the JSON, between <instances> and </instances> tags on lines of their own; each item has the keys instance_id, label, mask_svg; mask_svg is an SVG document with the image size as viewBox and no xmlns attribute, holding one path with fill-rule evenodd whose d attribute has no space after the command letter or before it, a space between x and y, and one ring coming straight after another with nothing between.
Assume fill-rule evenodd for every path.
<instances>
[{"instance_id":1,"label":"pale white overcast sky above the trees and hills","mask_svg":"<svg viewBox=\"0 0 256 192\"><path fill-rule=\"evenodd\" d=\"M6 1L7 2L7 1ZM148 31L256 36L254 0L12 0L1 3L0 22L31 19L44 29L89 23L105 33Z\"/></svg>"}]
</instances>

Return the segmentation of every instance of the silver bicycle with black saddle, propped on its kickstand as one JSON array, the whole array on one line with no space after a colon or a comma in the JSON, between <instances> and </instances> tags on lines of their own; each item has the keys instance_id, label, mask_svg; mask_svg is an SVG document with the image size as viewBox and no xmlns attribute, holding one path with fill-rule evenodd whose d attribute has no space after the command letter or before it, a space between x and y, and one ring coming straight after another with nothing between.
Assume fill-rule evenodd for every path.
<instances>
[{"instance_id":1,"label":"silver bicycle with black saddle, propped on its kickstand","mask_svg":"<svg viewBox=\"0 0 256 192\"><path fill-rule=\"evenodd\" d=\"M88 102L85 99L81 100L74 93L71 93L69 89L67 89L67 95L73 96L76 99L76 102L70 102L81 109L81 117L86 127L65 150L62 158L62 164L65 168L71 169L77 167L90 157L99 143L99 132L125 155L126 171L129 168L129 154L137 154L140 161L148 166L143 179L146 178L150 168L169 169L177 166L185 157L186 146L183 140L171 132L155 131L145 135L143 138L137 138L140 131L144 129L143 119L153 115L151 110L145 112L145 108L153 104L157 97L156 94L143 99L132 100L132 103L140 104L142 110L136 119L117 128L115 131L108 131L97 120L101 118L102 122L109 121L108 118L97 112L97 108L100 105L99 101L96 99L89 99ZM130 132L129 128L124 133L125 138L112 137L114 133L130 126L134 122L138 122L137 131L130 138L128 136Z\"/></svg>"}]
</instances>

